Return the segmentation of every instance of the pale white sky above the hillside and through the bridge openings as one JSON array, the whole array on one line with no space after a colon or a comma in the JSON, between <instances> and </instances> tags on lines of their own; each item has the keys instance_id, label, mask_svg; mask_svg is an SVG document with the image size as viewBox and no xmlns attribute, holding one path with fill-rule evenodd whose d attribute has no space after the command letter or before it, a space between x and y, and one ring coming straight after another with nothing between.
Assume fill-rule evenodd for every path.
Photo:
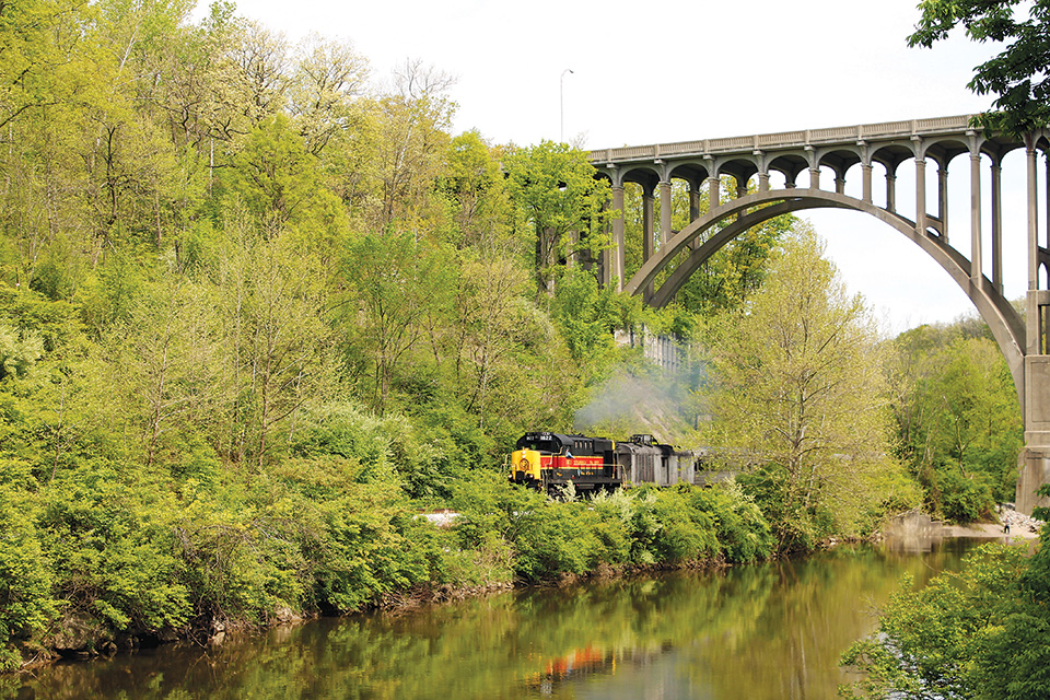
<instances>
[{"instance_id":1,"label":"pale white sky above the hillside and through the bridge openings","mask_svg":"<svg viewBox=\"0 0 1050 700\"><path fill-rule=\"evenodd\" d=\"M376 81L408 59L455 75L456 132L477 129L518 145L563 137L603 149L989 108L990 97L966 84L996 47L959 33L933 49L908 48L917 3L240 0L237 11L292 43L311 33L350 42ZM965 208L955 213L969 196L964 160L949 168L949 221L969 220ZM1011 299L1023 295L1027 276L1023 162L1004 164ZM855 212L803 215L887 332L971 313L947 273L886 224ZM968 226L959 231L968 238Z\"/></svg>"}]
</instances>

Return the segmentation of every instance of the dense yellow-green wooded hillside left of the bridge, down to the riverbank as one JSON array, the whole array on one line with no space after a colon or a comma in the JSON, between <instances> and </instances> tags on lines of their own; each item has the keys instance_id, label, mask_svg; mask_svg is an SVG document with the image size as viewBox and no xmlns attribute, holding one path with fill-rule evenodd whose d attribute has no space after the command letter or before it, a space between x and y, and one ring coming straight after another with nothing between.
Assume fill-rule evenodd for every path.
<instances>
[{"instance_id":1,"label":"dense yellow-green wooded hillside left of the bridge, down to the riverbank","mask_svg":"<svg viewBox=\"0 0 1050 700\"><path fill-rule=\"evenodd\" d=\"M373 83L349 44L191 10L0 2L0 665L769 553L736 497L497 474L643 316L596 281L615 212L585 153L453 135L419 61Z\"/></svg>"}]
</instances>

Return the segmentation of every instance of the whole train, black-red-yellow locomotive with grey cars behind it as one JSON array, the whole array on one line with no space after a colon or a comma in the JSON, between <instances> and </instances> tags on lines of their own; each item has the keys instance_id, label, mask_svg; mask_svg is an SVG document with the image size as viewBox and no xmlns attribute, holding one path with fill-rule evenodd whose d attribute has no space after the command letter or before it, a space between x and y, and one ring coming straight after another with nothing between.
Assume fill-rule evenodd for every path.
<instances>
[{"instance_id":1,"label":"whole train, black-red-yellow locomotive with grey cars behind it","mask_svg":"<svg viewBox=\"0 0 1050 700\"><path fill-rule=\"evenodd\" d=\"M696 483L701 452L677 450L645 434L616 442L587 435L525 433L511 454L510 480L548 492L572 483L576 491L592 493L642 483Z\"/></svg>"}]
</instances>

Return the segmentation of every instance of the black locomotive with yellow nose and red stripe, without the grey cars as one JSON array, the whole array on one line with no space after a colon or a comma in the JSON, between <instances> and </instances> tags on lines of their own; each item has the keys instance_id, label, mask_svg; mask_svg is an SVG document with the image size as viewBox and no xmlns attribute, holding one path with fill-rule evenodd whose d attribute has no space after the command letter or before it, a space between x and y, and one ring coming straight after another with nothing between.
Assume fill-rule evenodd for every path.
<instances>
[{"instance_id":1,"label":"black locomotive with yellow nose and red stripe, without the grey cars","mask_svg":"<svg viewBox=\"0 0 1050 700\"><path fill-rule=\"evenodd\" d=\"M606 438L525 433L511 454L511 481L551 491L569 483L578 491L619 487L614 452Z\"/></svg>"}]
</instances>

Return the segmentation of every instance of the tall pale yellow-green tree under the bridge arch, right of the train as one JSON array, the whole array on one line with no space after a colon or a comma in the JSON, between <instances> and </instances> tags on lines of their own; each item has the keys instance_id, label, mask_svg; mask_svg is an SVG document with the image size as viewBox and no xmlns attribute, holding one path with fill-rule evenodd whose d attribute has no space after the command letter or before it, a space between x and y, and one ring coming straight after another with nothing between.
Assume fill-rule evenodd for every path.
<instances>
[{"instance_id":1,"label":"tall pale yellow-green tree under the bridge arch, right of the train","mask_svg":"<svg viewBox=\"0 0 1050 700\"><path fill-rule=\"evenodd\" d=\"M715 440L758 465L748 481L781 549L913 500L892 483L875 324L822 253L810 230L785 240L766 284L714 329Z\"/></svg>"}]
</instances>

